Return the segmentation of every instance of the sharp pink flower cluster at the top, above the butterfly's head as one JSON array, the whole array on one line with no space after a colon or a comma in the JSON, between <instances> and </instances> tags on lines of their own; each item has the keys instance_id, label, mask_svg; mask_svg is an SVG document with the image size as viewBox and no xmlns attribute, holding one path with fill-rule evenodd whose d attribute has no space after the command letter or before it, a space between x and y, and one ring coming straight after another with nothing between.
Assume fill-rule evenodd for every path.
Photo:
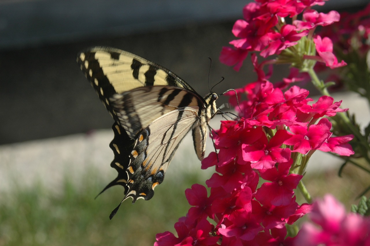
<instances>
[{"instance_id":1,"label":"sharp pink flower cluster at the top, above the butterfly's head","mask_svg":"<svg viewBox=\"0 0 370 246\"><path fill-rule=\"evenodd\" d=\"M333 54L332 40L313 36L317 26L330 25L340 18L337 11L324 14L310 9L314 5L323 5L324 1L256 0L247 4L243 9L244 19L237 20L232 29L238 39L230 42L233 47L222 48L220 61L238 71L249 52L260 51L262 57L278 55L307 36L313 37L317 56L306 54L304 59L323 62L330 68L345 66L346 63L338 62ZM302 14L302 20L297 20L299 14ZM287 24L286 18L291 18L292 24Z\"/></svg>"}]
</instances>

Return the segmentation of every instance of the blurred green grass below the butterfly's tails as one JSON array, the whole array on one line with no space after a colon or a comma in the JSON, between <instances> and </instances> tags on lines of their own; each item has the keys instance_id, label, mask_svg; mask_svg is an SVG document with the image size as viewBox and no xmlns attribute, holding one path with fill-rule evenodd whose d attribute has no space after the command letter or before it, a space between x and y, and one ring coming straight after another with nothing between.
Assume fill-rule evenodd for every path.
<instances>
[{"instance_id":1,"label":"blurred green grass below the butterfly's tails","mask_svg":"<svg viewBox=\"0 0 370 246\"><path fill-rule=\"evenodd\" d=\"M115 186L97 199L108 183L97 171L83 174L77 182L65 176L60 189L36 182L29 187L17 185L0 195L0 246L62 245L153 245L155 235L174 232L174 223L185 216L189 205L185 189L200 181L197 174L186 180L165 179L149 200L122 203L124 188Z\"/></svg>"}]
</instances>

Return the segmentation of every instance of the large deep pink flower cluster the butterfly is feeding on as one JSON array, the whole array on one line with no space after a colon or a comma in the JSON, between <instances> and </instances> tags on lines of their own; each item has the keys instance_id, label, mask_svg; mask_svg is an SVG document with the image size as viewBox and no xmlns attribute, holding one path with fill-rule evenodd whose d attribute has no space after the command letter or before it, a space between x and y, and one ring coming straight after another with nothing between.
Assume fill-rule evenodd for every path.
<instances>
[{"instance_id":1,"label":"large deep pink flower cluster the butterfly is feeding on","mask_svg":"<svg viewBox=\"0 0 370 246\"><path fill-rule=\"evenodd\" d=\"M285 225L310 210L296 202L293 190L302 175L290 172L292 153L353 154L353 136L332 137L331 123L322 118L345 111L331 97L311 105L307 90L293 86L283 92L268 81L237 91L248 97L236 107L243 118L221 122L213 133L219 152L202 161L203 169L216 166L206 181L209 196L202 185L187 189L193 207L175 224L178 236L159 233L155 246L292 245ZM235 103L235 94L229 96Z\"/></svg>"}]
</instances>

